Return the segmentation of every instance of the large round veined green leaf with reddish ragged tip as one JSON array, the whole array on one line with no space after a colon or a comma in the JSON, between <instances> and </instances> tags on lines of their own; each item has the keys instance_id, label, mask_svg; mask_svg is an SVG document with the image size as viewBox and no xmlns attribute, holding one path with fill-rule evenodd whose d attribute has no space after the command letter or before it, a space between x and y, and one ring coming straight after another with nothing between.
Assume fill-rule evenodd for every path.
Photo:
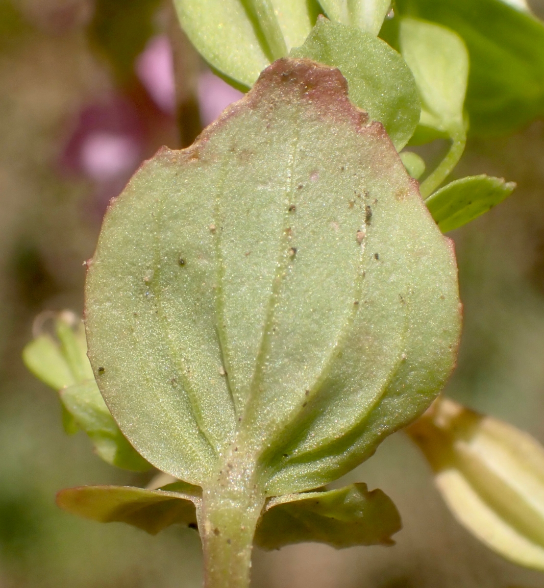
<instances>
[{"instance_id":1,"label":"large round veined green leaf with reddish ragged tip","mask_svg":"<svg viewBox=\"0 0 544 588\"><path fill-rule=\"evenodd\" d=\"M86 325L102 395L149 462L205 488L228 470L298 492L442 387L455 258L339 71L281 59L110 206Z\"/></svg>"}]
</instances>

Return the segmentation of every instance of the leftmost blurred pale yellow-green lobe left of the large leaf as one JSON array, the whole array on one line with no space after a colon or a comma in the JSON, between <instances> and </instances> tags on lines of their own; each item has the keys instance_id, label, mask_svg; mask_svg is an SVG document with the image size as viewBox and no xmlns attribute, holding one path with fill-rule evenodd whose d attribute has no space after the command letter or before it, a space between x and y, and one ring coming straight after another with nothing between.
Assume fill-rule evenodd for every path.
<instances>
[{"instance_id":1,"label":"leftmost blurred pale yellow-green lobe left of the large leaf","mask_svg":"<svg viewBox=\"0 0 544 588\"><path fill-rule=\"evenodd\" d=\"M54 390L75 383L72 370L62 355L58 342L51 335L39 335L23 349L25 366Z\"/></svg>"}]
</instances>

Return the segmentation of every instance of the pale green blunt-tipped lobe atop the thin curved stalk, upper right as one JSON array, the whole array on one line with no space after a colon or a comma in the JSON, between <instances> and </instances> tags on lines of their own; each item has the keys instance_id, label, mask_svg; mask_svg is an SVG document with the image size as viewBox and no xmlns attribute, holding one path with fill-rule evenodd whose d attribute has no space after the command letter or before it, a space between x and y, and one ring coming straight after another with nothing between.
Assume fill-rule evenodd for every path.
<instances>
[{"instance_id":1,"label":"pale green blunt-tipped lobe atop the thin curved stalk, upper right","mask_svg":"<svg viewBox=\"0 0 544 588\"><path fill-rule=\"evenodd\" d=\"M443 26L403 18L399 42L421 96L421 124L455 135L463 127L469 68L462 39Z\"/></svg>"}]
</instances>

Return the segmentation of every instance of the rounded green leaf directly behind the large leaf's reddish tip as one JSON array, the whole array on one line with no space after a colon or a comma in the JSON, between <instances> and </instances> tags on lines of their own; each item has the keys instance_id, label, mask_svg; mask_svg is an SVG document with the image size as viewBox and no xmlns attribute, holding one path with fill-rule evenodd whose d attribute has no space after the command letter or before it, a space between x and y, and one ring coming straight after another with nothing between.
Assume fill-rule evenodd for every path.
<instances>
[{"instance_id":1,"label":"rounded green leaf directly behind the large leaf's reddish tip","mask_svg":"<svg viewBox=\"0 0 544 588\"><path fill-rule=\"evenodd\" d=\"M418 90L402 57L385 41L320 16L291 56L338 68L351 101L385 126L398 151L406 145L419 122Z\"/></svg>"}]
</instances>

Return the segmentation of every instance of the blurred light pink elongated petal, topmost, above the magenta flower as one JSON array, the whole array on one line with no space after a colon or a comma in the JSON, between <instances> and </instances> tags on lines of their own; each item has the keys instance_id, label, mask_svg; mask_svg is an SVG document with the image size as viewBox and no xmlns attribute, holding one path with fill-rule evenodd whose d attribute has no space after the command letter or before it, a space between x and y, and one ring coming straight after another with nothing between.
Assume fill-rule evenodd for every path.
<instances>
[{"instance_id":1,"label":"blurred light pink elongated petal, topmost, above the magenta flower","mask_svg":"<svg viewBox=\"0 0 544 588\"><path fill-rule=\"evenodd\" d=\"M136 74L156 105L173 115L176 109L176 85L173 71L172 46L166 35L148 42L136 59Z\"/></svg>"}]
</instances>

